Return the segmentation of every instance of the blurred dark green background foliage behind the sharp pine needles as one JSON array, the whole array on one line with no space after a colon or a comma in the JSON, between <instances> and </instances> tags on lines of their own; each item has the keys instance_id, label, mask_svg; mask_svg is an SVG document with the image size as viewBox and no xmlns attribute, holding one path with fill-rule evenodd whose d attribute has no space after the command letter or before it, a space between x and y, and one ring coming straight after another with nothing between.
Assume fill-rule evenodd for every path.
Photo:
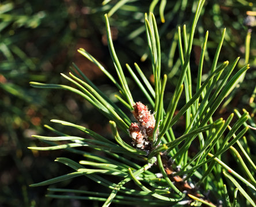
<instances>
[{"instance_id":1,"label":"blurred dark green background foliage behind the sharp pine needles","mask_svg":"<svg viewBox=\"0 0 256 207\"><path fill-rule=\"evenodd\" d=\"M160 13L163 9L161 1L156 3L155 7L152 2L157 1L151 0L129 1L121 7L115 6L118 1L104 1L104 5L101 5L102 2L16 0L0 3L0 165L3 166L0 171L0 206L17 206L17 202L20 206L71 206L67 201L45 200L43 190L46 189L27 187L33 182L59 175L59 166L47 161L61 153L40 152L40 162L39 157L35 160L34 156L38 155L27 150L27 147L34 142L30 135L42 132L41 126L47 124L51 118L81 124L88 120L83 117L91 117L91 121L86 124L100 130L104 126L97 124L97 121L102 117L97 113L95 115L95 112L90 110L91 106L82 103L81 99L77 100L77 97L74 97L77 100L74 101L69 94L62 91L56 93L40 90L38 93L38 90L32 89L28 83L29 81L61 82L59 72L65 71L73 60L80 68L84 67L84 72L93 74L90 78L103 85L111 95L111 87L106 85L107 82L101 79L100 74L94 71L85 59L81 57L81 60L80 55L76 56L76 48L85 47L87 50L89 48L92 53L100 57L97 59L106 64L109 71L114 70L111 60L104 56L108 53L104 46L106 44L104 13L111 16L111 30L114 31L112 36L121 62L130 63L131 60L137 62L137 59L141 59L144 61L143 67L149 68L149 62L145 61L148 49L145 27L141 26L141 21L145 12L149 9L154 11L160 24L161 43L166 43L161 44L163 72L172 78L169 85L175 86L176 73L180 65L176 25L186 23L189 25L193 16L191 11L195 10L197 1L168 1L161 14L162 18L164 15L165 23L161 23ZM234 60L240 56L240 65L247 61L250 63L252 69L247 72L241 83L239 93L236 93L238 95L231 102L232 105L227 105L225 109L229 111L242 105L244 107L244 104L249 112L256 110L254 102L249 106L251 95L255 96L256 73L253 68L256 67L254 38L256 34L255 26L244 25L248 10L255 10L253 1L207 1L195 34L193 58L197 64L200 54L198 46L201 46L199 42L204 39L206 30L211 31L206 51L205 65L208 66L205 67L206 71L209 70L209 63L214 57L216 40L219 41L221 29L224 27L227 28L225 51L221 51L220 61ZM251 50L246 60L245 41L249 31ZM127 49L123 50L123 48ZM89 71L86 71L88 68ZM193 71L193 68L191 70ZM150 70L145 73L146 76L150 75L147 74ZM63 167L62 170L65 168Z\"/></svg>"}]
</instances>

